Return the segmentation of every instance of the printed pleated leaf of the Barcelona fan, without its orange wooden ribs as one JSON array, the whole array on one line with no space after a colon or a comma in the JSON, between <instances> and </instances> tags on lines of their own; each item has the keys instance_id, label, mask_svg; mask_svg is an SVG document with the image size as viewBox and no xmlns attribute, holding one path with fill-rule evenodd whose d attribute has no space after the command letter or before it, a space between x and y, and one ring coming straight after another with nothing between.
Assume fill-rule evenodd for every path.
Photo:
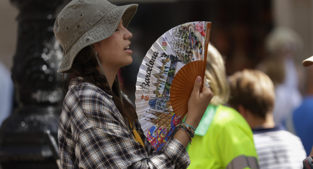
<instances>
[{"instance_id":1,"label":"printed pleated leaf of the Barcelona fan, without its orange wooden ribs","mask_svg":"<svg viewBox=\"0 0 313 169\"><path fill-rule=\"evenodd\" d=\"M203 60L207 23L185 23L167 31L152 45L141 64L136 109L147 140L157 151L182 122L183 117L172 108L171 85L182 67Z\"/></svg>"}]
</instances>

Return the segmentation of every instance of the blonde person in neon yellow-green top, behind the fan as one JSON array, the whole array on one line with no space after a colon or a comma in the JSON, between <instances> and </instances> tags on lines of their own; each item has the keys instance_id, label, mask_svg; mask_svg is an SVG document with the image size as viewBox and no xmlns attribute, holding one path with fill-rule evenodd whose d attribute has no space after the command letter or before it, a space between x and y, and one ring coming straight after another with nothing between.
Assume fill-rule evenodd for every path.
<instances>
[{"instance_id":1,"label":"blonde person in neon yellow-green top, behind the fan","mask_svg":"<svg viewBox=\"0 0 313 169\"><path fill-rule=\"evenodd\" d=\"M226 107L230 89L224 60L209 44L205 78L214 96L187 147L188 169L259 168L251 128L234 109Z\"/></svg>"}]
</instances>

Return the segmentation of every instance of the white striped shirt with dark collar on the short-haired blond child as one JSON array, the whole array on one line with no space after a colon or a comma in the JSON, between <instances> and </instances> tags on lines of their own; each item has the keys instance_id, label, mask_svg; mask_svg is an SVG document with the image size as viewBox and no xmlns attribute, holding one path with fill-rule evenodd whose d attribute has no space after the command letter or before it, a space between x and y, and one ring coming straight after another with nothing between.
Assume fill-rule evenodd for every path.
<instances>
[{"instance_id":1,"label":"white striped shirt with dark collar on the short-haired blond child","mask_svg":"<svg viewBox=\"0 0 313 169\"><path fill-rule=\"evenodd\" d=\"M253 130L260 169L302 169L305 150L299 137L279 127Z\"/></svg>"}]
</instances>

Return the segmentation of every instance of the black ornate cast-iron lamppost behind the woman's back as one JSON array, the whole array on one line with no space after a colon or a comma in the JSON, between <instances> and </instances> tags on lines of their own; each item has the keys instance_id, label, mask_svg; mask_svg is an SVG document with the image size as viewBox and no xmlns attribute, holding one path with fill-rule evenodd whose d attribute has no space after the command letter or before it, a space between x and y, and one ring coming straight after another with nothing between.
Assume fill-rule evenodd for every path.
<instances>
[{"instance_id":1,"label":"black ornate cast-iron lamppost behind the woman's back","mask_svg":"<svg viewBox=\"0 0 313 169\"><path fill-rule=\"evenodd\" d=\"M47 132L56 139L64 98L62 76L56 72L62 49L53 33L63 0L11 3L20 10L12 69L16 107L0 128L0 163L3 169L57 168Z\"/></svg>"}]
</instances>

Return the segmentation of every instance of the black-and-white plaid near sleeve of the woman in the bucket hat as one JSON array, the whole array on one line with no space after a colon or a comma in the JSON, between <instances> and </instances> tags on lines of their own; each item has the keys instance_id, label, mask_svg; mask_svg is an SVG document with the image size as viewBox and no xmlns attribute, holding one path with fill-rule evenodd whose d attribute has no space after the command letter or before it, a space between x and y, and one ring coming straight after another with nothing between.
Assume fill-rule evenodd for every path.
<instances>
[{"instance_id":1,"label":"black-and-white plaid near sleeve of the woman in the bucket hat","mask_svg":"<svg viewBox=\"0 0 313 169\"><path fill-rule=\"evenodd\" d=\"M145 147L134 140L110 98L92 91L84 92L79 100L81 106L77 107L90 123L84 124L84 130L76 130L75 157L80 168L183 169L190 164L186 149L174 138L160 151L148 155ZM75 126L82 128L77 123Z\"/></svg>"}]
</instances>

